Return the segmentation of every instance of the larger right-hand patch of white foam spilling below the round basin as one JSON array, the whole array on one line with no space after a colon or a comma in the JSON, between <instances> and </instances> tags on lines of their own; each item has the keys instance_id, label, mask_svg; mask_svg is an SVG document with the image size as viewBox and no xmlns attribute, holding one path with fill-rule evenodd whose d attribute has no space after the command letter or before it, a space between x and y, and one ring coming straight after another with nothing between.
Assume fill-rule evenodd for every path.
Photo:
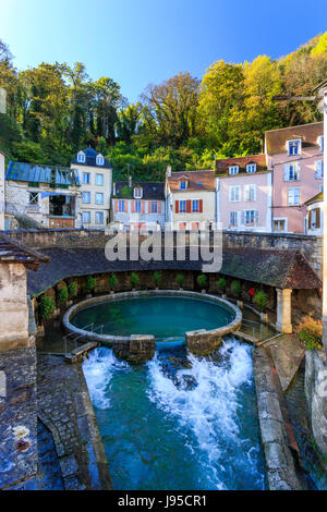
<instances>
[{"instance_id":1,"label":"larger right-hand patch of white foam spilling below the round basin","mask_svg":"<svg viewBox=\"0 0 327 512\"><path fill-rule=\"evenodd\" d=\"M226 485L221 475L226 466L229 463L241 465L243 460L255 470L258 448L239 438L238 411L242 407L240 387L252 383L251 350L245 344L230 340L220 348L220 354L222 361L218 364L189 356L192 368L181 369L177 375L179 381L183 380L183 376L195 379L197 386L189 390L175 387L162 374L157 358L150 361L148 397L165 413L175 417L180 431L193 432L197 450L202 453L199 462L207 477L218 489L223 489ZM185 446L194 453L194 446L190 446L189 441ZM227 454L228 447L232 447L230 454Z\"/></svg>"}]
</instances>

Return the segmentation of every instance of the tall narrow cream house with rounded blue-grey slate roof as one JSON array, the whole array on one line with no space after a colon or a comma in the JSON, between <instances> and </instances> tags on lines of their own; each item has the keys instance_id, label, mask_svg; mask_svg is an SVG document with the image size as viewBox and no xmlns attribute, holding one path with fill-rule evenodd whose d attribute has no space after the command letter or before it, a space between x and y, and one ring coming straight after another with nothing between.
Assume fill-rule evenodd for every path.
<instances>
[{"instance_id":1,"label":"tall narrow cream house with rounded blue-grey slate roof","mask_svg":"<svg viewBox=\"0 0 327 512\"><path fill-rule=\"evenodd\" d=\"M112 168L92 147L76 153L71 169L81 174L82 225L105 229L110 219Z\"/></svg>"}]
</instances>

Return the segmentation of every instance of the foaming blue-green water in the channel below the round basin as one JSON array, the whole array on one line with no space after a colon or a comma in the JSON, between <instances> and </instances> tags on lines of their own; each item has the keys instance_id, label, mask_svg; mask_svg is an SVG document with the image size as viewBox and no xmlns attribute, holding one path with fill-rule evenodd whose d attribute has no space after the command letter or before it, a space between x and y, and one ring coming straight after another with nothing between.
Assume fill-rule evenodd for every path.
<instances>
[{"instance_id":1,"label":"foaming blue-green water in the channel below the round basin","mask_svg":"<svg viewBox=\"0 0 327 512\"><path fill-rule=\"evenodd\" d=\"M161 346L134 367L101 348L83 369L114 489L266 488L250 346Z\"/></svg>"}]
</instances>

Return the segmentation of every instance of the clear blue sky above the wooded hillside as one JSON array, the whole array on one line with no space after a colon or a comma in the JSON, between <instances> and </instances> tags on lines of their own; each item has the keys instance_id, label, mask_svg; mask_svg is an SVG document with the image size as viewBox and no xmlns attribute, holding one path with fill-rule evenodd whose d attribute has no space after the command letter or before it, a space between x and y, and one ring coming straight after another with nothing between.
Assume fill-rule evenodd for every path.
<instances>
[{"instance_id":1,"label":"clear blue sky above the wooded hillside","mask_svg":"<svg viewBox=\"0 0 327 512\"><path fill-rule=\"evenodd\" d=\"M0 38L19 70L82 61L135 102L180 71L284 56L327 31L326 0L0 0Z\"/></svg>"}]
</instances>

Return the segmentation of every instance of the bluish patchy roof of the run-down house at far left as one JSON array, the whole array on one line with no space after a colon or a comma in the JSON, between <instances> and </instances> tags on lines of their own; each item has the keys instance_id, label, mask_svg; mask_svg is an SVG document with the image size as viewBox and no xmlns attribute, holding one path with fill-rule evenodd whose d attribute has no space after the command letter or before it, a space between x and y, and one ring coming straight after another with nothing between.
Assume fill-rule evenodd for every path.
<instances>
[{"instance_id":1,"label":"bluish patchy roof of the run-down house at far left","mask_svg":"<svg viewBox=\"0 0 327 512\"><path fill-rule=\"evenodd\" d=\"M78 171L70 168L40 166L10 161L5 171L5 180L47 183L48 185L80 185Z\"/></svg>"}]
</instances>

